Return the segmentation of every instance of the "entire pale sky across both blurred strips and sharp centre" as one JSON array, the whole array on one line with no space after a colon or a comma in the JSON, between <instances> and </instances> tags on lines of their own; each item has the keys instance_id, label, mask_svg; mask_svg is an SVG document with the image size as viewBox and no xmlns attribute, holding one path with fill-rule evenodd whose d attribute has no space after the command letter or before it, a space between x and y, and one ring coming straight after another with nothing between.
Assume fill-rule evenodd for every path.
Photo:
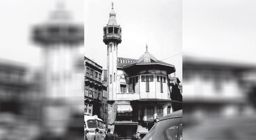
<instances>
[{"instance_id":1,"label":"entire pale sky across both blurred strips and sharp centre","mask_svg":"<svg viewBox=\"0 0 256 140\"><path fill-rule=\"evenodd\" d=\"M65 0L74 20L85 20L85 55L106 69L103 26L111 1ZM119 57L138 59L149 52L162 60L183 55L256 62L255 0L140 0L114 2L122 27ZM31 26L48 19L54 0L7 0L0 4L0 58L40 63L40 49L31 44ZM183 49L183 50L182 50ZM83 50L81 50L83 51ZM182 55L164 60L182 77Z\"/></svg>"}]
</instances>

